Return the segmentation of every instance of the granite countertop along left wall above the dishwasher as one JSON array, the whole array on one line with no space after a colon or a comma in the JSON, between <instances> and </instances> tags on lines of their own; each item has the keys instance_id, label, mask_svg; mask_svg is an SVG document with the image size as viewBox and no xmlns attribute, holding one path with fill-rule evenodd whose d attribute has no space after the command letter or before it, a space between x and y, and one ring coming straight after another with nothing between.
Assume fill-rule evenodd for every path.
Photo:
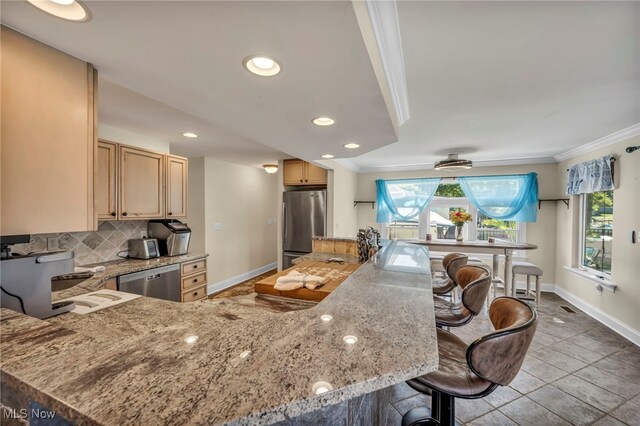
<instances>
[{"instance_id":1,"label":"granite countertop along left wall above the dishwasher","mask_svg":"<svg viewBox=\"0 0 640 426\"><path fill-rule=\"evenodd\" d=\"M52 292L52 299L55 302L56 300L66 299L67 297L78 296L80 294L99 290L104 287L104 284L107 281L120 275L144 271L152 268L159 268L161 266L173 265L175 263L184 263L191 260L204 259L207 256L209 255L205 253L187 253L181 256L162 256L155 259L122 259L100 264L96 263L92 265L86 265L86 267L104 266L105 270L103 272L96 272L92 275L89 275L86 272L74 272L64 275L63 278L65 279L74 279L86 276L89 276L89 278L69 289ZM60 277L58 277L58 280L60 280Z\"/></svg>"}]
</instances>

